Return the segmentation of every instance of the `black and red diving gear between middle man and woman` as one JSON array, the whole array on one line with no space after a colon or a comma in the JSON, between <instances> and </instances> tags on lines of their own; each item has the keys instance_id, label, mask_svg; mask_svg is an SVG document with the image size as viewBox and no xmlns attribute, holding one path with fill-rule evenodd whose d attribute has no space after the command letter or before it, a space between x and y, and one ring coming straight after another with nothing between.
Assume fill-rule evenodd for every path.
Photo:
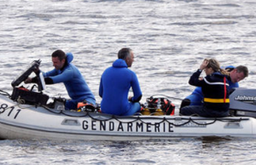
<instances>
[{"instance_id":1,"label":"black and red diving gear between middle man and woman","mask_svg":"<svg viewBox=\"0 0 256 165\"><path fill-rule=\"evenodd\" d=\"M166 97L160 96L151 96L147 100L148 110L153 113L157 109L157 103L160 101L160 109L165 112L165 115L174 115L175 105L172 104L171 100L168 100Z\"/></svg>"}]
</instances>

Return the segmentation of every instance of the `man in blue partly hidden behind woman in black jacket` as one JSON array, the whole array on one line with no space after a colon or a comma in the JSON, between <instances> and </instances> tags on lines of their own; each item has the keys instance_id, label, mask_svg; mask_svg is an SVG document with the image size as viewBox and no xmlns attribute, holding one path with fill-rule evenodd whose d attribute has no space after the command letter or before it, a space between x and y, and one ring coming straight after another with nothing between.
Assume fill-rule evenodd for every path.
<instances>
[{"instance_id":1,"label":"man in blue partly hidden behind woman in black jacket","mask_svg":"<svg viewBox=\"0 0 256 165\"><path fill-rule=\"evenodd\" d=\"M238 88L241 80L248 77L247 66L239 65L236 68L232 65L225 67L225 70L230 72L228 77L228 83L230 84L229 89ZM201 92L201 87L196 87L195 90L187 96L181 103L180 109L187 105L202 105L203 104L203 94Z\"/></svg>"}]
</instances>

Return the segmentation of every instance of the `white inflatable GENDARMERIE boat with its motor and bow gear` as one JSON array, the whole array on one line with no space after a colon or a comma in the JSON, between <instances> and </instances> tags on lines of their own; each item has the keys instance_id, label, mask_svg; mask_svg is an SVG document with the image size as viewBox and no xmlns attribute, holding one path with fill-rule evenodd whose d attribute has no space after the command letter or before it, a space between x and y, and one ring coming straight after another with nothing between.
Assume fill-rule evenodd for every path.
<instances>
[{"instance_id":1,"label":"white inflatable GENDARMERIE boat with its motor and bow gear","mask_svg":"<svg viewBox=\"0 0 256 165\"><path fill-rule=\"evenodd\" d=\"M230 94L230 117L139 115L117 117L99 111L66 111L61 98L49 106L43 94L17 86L32 64L12 83L13 94L0 92L0 139L134 140L181 137L256 137L256 89L236 88Z\"/></svg>"}]
</instances>

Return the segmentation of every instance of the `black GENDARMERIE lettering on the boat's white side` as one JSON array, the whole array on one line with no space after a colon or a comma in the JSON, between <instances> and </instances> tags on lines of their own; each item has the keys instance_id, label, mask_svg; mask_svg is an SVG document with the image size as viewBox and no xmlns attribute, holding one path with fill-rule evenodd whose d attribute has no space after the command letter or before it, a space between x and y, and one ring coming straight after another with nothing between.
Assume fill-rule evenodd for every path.
<instances>
[{"instance_id":1,"label":"black GENDARMERIE lettering on the boat's white side","mask_svg":"<svg viewBox=\"0 0 256 165\"><path fill-rule=\"evenodd\" d=\"M171 122L113 122L96 120L84 120L83 122L83 129L88 131L172 133L172 128Z\"/></svg>"}]
</instances>

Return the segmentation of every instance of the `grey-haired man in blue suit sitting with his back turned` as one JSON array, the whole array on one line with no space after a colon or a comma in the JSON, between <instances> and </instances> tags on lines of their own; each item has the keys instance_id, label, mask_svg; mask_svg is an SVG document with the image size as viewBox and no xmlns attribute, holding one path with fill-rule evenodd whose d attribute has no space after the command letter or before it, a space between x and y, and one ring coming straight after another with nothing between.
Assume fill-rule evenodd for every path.
<instances>
[{"instance_id":1,"label":"grey-haired man in blue suit sitting with his back turned","mask_svg":"<svg viewBox=\"0 0 256 165\"><path fill-rule=\"evenodd\" d=\"M141 110L139 100L143 94L136 73L128 69L134 60L131 48L120 49L118 58L102 74L99 89L101 109L111 115L131 116ZM130 88L134 96L128 100Z\"/></svg>"}]
</instances>

